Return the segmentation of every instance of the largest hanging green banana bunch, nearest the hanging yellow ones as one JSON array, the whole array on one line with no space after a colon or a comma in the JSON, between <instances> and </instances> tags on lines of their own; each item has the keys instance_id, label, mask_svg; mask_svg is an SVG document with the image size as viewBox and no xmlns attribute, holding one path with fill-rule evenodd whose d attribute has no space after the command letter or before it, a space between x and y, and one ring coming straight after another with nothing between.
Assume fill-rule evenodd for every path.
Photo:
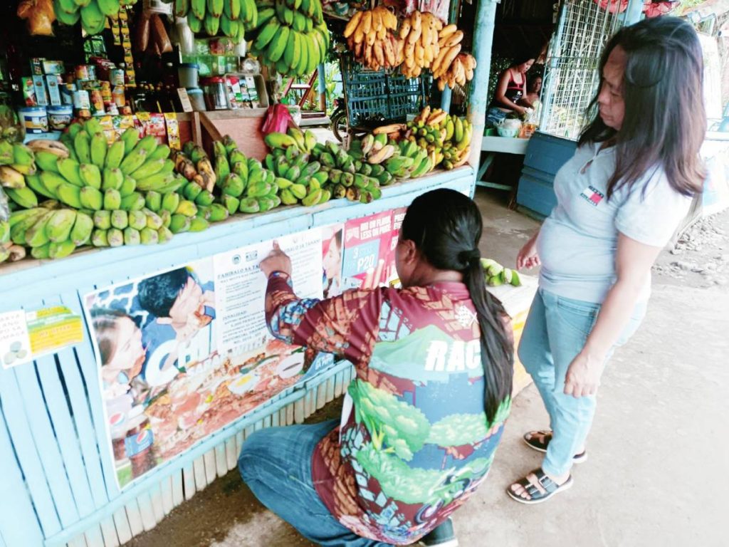
<instances>
[{"instance_id":1,"label":"largest hanging green banana bunch, nearest the hanging yellow ones","mask_svg":"<svg viewBox=\"0 0 729 547\"><path fill-rule=\"evenodd\" d=\"M252 55L284 76L308 76L327 58L330 34L321 0L264 0L258 21L246 32Z\"/></svg>"}]
</instances>

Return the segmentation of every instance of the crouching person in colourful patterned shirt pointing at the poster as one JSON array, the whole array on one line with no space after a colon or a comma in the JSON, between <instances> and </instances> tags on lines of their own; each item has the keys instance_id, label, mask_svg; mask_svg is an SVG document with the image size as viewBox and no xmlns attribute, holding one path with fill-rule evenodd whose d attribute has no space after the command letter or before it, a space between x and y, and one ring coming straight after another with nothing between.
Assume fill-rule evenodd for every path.
<instances>
[{"instance_id":1,"label":"crouching person in colourful patterned shirt pointing at the poster","mask_svg":"<svg viewBox=\"0 0 729 547\"><path fill-rule=\"evenodd\" d=\"M397 242L402 290L302 300L278 246L262 261L271 333L356 368L340 424L258 431L238 460L261 503L309 540L458 545L448 516L486 478L511 403L510 320L484 287L481 230L456 191L416 198Z\"/></svg>"}]
</instances>

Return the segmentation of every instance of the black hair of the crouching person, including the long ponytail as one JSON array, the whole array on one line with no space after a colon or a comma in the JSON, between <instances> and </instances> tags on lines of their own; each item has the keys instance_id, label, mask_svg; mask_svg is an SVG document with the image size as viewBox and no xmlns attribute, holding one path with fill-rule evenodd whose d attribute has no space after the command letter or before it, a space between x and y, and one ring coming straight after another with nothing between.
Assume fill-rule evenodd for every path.
<instances>
[{"instance_id":1,"label":"black hair of the crouching person, including the long ponytail","mask_svg":"<svg viewBox=\"0 0 729 547\"><path fill-rule=\"evenodd\" d=\"M502 303L486 290L478 242L483 230L475 203L456 190L432 190L408 207L400 237L416 244L425 260L439 270L460 271L476 308L481 330L481 362L486 417L511 396L514 364L512 336L507 333Z\"/></svg>"}]
</instances>

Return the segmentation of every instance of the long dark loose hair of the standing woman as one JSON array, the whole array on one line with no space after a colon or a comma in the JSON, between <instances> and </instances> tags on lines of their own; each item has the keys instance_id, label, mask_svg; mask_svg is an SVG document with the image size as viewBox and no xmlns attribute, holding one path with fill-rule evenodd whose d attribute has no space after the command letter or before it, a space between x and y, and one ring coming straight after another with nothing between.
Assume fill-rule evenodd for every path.
<instances>
[{"instance_id":1,"label":"long dark loose hair of the standing woman","mask_svg":"<svg viewBox=\"0 0 729 547\"><path fill-rule=\"evenodd\" d=\"M626 55L620 131L605 125L598 104L603 69L615 47ZM657 166L678 193L701 192L705 172L698 152L706 133L706 112L703 53L693 27L663 16L621 28L607 42L599 71L600 88L588 107L592 121L579 144L615 142L617 160L607 185L608 198Z\"/></svg>"}]
</instances>

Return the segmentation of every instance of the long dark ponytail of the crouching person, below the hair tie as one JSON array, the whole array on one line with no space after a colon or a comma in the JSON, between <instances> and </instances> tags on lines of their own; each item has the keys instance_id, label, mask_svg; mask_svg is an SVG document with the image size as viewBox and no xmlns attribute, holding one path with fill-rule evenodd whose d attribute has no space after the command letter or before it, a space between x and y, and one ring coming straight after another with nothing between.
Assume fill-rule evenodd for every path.
<instances>
[{"instance_id":1,"label":"long dark ponytail of the crouching person, below the hair tie","mask_svg":"<svg viewBox=\"0 0 729 547\"><path fill-rule=\"evenodd\" d=\"M514 376L514 344L507 333L507 313L498 298L486 290L484 272L478 258L471 258L464 270L464 283L476 309L481 330L481 362L486 385L484 408L493 422L504 400L511 397Z\"/></svg>"}]
</instances>

